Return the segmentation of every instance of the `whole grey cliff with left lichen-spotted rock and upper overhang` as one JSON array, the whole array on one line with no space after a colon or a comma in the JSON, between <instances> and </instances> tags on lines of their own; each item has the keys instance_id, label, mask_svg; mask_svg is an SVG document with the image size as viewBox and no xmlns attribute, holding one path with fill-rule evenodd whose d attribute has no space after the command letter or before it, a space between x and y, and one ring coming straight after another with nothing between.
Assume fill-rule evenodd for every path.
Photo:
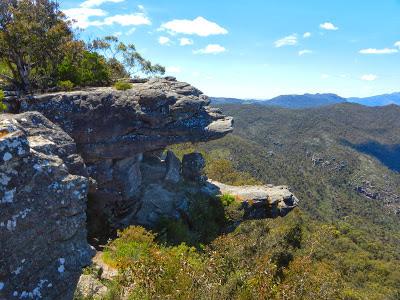
<instances>
[{"instance_id":1,"label":"whole grey cliff with left lichen-spotted rock and upper overhang","mask_svg":"<svg viewBox=\"0 0 400 300\"><path fill-rule=\"evenodd\" d=\"M205 162L165 148L232 131L232 118L208 104L196 88L163 78L128 91L40 95L20 100L21 114L1 115L0 299L70 299L92 254L86 230L100 245L131 224L184 218L191 195L209 184ZM248 218L272 216L264 198ZM291 200L274 202L286 205L279 215Z\"/></svg>"}]
</instances>

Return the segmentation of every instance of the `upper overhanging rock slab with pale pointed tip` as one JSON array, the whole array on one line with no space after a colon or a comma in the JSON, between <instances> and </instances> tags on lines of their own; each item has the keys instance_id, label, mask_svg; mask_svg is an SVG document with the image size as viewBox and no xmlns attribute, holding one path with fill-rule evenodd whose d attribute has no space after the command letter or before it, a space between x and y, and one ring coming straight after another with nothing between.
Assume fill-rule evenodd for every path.
<instances>
[{"instance_id":1,"label":"upper overhanging rock slab with pale pointed tip","mask_svg":"<svg viewBox=\"0 0 400 300\"><path fill-rule=\"evenodd\" d=\"M175 78L135 83L127 91L91 88L36 96L23 111L39 111L76 142L85 161L123 159L184 142L218 139L233 119L200 90Z\"/></svg>"}]
</instances>

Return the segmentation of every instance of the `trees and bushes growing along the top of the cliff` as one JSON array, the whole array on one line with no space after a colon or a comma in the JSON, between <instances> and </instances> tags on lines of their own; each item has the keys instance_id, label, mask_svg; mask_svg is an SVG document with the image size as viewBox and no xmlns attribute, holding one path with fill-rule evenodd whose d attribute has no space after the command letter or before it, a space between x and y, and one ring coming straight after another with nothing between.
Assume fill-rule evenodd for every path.
<instances>
[{"instance_id":1,"label":"trees and bushes growing along the top of the cliff","mask_svg":"<svg viewBox=\"0 0 400 300\"><path fill-rule=\"evenodd\" d=\"M164 74L133 44L117 37L84 42L77 38L53 0L0 2L0 78L24 93L54 87L108 86L135 74ZM0 82L0 83L1 83Z\"/></svg>"}]
</instances>

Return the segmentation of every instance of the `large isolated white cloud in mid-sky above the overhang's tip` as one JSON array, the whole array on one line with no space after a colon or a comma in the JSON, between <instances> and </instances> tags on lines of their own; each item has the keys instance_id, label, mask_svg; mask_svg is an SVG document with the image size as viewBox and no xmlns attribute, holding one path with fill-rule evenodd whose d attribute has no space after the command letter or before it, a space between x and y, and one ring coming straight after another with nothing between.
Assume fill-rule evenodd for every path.
<instances>
[{"instance_id":1,"label":"large isolated white cloud in mid-sky above the overhang's tip","mask_svg":"<svg viewBox=\"0 0 400 300\"><path fill-rule=\"evenodd\" d=\"M170 34L182 33L199 36L228 33L228 30L225 28L203 17L197 17L194 20L172 20L162 24L159 30L167 30Z\"/></svg>"}]
</instances>

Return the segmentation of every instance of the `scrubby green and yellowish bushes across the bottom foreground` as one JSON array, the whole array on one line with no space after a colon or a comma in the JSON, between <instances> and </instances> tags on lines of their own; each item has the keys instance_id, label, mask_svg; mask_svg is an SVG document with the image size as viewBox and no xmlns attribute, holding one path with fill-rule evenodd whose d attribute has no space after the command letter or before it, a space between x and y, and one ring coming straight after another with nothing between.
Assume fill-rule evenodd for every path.
<instances>
[{"instance_id":1,"label":"scrubby green and yellowish bushes across the bottom foreground","mask_svg":"<svg viewBox=\"0 0 400 300\"><path fill-rule=\"evenodd\" d=\"M112 299L397 299L398 270L368 258L354 234L299 210L243 223L201 250L130 227L104 253L120 274L107 284Z\"/></svg>"}]
</instances>

